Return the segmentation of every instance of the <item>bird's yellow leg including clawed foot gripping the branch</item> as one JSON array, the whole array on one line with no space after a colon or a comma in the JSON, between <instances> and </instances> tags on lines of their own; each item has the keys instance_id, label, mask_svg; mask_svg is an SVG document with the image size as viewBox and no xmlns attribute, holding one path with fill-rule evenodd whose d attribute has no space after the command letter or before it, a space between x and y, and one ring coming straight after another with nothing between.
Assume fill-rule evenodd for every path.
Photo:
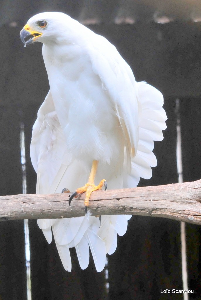
<instances>
[{"instance_id":1,"label":"bird's yellow leg including clawed foot gripping the branch","mask_svg":"<svg viewBox=\"0 0 201 300\"><path fill-rule=\"evenodd\" d=\"M94 184L94 179L96 176L97 168L98 168L98 161L93 161L88 182L83 187L79 187L78 189L76 189L76 191L70 196L69 201L68 201L68 203L70 205L70 202L74 197L76 198L80 194L86 192L85 201L84 201L85 213L87 213L88 202L89 202L89 197L90 197L91 193L95 190L101 190L103 185L105 186L105 190L107 189L107 182L105 179L101 180L101 182L98 185Z\"/></svg>"}]
</instances>

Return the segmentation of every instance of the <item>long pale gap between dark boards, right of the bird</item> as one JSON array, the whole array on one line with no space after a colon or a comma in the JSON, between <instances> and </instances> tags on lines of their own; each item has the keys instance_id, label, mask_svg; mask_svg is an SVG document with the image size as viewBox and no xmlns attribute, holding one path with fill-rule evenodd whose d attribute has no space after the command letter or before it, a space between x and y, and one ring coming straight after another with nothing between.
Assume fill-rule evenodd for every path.
<instances>
[{"instance_id":1,"label":"long pale gap between dark boards, right of the bird","mask_svg":"<svg viewBox=\"0 0 201 300\"><path fill-rule=\"evenodd\" d=\"M176 99L176 118L177 118L177 148L176 148L176 158L177 158L177 173L178 182L183 182L183 169L182 169L182 140L181 140L181 119L180 119L180 107L179 99ZM181 246L182 246L182 280L183 289L188 289L188 274L187 274L187 257L186 257L186 223L181 222ZM188 300L188 294L183 294L184 300Z\"/></svg>"}]
</instances>

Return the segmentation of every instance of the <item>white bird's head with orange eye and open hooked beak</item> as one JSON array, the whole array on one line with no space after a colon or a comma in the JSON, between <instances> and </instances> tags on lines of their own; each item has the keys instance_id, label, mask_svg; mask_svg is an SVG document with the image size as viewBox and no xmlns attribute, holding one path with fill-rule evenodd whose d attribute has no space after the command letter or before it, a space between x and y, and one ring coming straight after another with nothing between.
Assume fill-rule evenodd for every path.
<instances>
[{"instance_id":1,"label":"white bird's head with orange eye and open hooked beak","mask_svg":"<svg viewBox=\"0 0 201 300\"><path fill-rule=\"evenodd\" d=\"M46 12L33 16L20 32L24 46L36 41L44 43L46 40L57 38L64 31L64 25L69 23L70 16L64 13Z\"/></svg>"}]
</instances>

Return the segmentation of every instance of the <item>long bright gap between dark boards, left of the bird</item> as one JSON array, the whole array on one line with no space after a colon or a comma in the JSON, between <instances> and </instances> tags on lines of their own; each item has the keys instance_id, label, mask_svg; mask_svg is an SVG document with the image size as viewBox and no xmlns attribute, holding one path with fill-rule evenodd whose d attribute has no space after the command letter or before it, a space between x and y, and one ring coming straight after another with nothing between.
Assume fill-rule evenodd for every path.
<instances>
[{"instance_id":1,"label":"long bright gap between dark boards, left of the bird","mask_svg":"<svg viewBox=\"0 0 201 300\"><path fill-rule=\"evenodd\" d=\"M20 124L20 151L21 151L21 167L22 167L22 193L26 194L26 157L25 157L24 123L22 122ZM25 238L25 258L26 258L27 300L32 300L28 220L24 220L24 238Z\"/></svg>"}]
</instances>

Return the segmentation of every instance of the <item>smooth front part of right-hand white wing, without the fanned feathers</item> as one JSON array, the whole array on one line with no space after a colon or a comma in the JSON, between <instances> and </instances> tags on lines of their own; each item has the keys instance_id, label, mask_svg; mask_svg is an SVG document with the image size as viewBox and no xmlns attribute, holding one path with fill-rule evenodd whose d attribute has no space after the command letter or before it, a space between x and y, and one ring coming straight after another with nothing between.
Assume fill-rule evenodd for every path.
<instances>
[{"instance_id":1,"label":"smooth front part of right-hand white wing, without the fanned feathers","mask_svg":"<svg viewBox=\"0 0 201 300\"><path fill-rule=\"evenodd\" d=\"M95 35L88 45L92 68L110 95L114 110L124 133L129 152L136 153L138 145L138 104L136 81L130 66L115 46L104 37Z\"/></svg>"}]
</instances>

